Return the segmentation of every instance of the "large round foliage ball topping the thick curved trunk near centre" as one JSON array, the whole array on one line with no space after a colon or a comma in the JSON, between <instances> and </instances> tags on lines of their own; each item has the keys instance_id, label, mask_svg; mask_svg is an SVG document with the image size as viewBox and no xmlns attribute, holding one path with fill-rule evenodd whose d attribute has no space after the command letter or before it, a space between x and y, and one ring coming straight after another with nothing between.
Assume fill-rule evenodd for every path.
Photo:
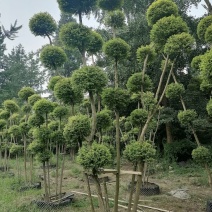
<instances>
[{"instance_id":1,"label":"large round foliage ball topping the thick curved trunk near centre","mask_svg":"<svg viewBox=\"0 0 212 212\"><path fill-rule=\"evenodd\" d=\"M98 66L84 66L74 71L72 83L84 92L99 93L107 84L107 76Z\"/></svg>"}]
</instances>

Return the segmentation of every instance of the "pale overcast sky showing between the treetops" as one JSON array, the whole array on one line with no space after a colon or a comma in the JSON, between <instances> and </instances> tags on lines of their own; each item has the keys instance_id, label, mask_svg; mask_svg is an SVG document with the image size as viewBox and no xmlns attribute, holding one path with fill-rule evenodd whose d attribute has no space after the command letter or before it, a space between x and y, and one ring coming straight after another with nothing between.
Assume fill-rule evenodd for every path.
<instances>
[{"instance_id":1,"label":"pale overcast sky showing between the treetops","mask_svg":"<svg viewBox=\"0 0 212 212\"><path fill-rule=\"evenodd\" d=\"M0 24L4 25L6 29L10 28L10 24L18 20L18 25L23 25L18 33L18 37L14 41L6 39L6 46L8 51L18 44L22 44L26 50L36 51L42 45L48 43L48 39L35 37L29 30L29 19L36 13L48 12L58 22L60 18L60 10L58 8L57 0L0 0ZM201 16L205 10L200 5L198 9L192 9L194 16ZM93 26L92 20L86 21L86 24ZM85 22L84 22L85 23Z\"/></svg>"}]
</instances>

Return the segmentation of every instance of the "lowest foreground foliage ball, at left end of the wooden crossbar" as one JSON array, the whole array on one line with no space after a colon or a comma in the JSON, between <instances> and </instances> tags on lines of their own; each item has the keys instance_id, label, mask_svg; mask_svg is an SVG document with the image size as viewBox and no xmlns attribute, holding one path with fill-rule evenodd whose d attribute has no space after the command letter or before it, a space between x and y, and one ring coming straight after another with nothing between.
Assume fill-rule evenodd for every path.
<instances>
[{"instance_id":1,"label":"lowest foreground foliage ball, at left end of the wooden crossbar","mask_svg":"<svg viewBox=\"0 0 212 212\"><path fill-rule=\"evenodd\" d=\"M90 147L83 146L79 150L77 159L85 170L98 174L101 168L111 162L112 156L108 147L94 142Z\"/></svg>"}]
</instances>

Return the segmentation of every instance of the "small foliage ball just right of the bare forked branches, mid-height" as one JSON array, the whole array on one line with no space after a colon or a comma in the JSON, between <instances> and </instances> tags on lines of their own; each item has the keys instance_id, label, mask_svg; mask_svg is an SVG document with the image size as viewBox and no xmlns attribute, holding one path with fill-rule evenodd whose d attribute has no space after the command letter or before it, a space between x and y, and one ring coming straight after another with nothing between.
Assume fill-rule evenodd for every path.
<instances>
[{"instance_id":1,"label":"small foliage ball just right of the bare forked branches, mid-height","mask_svg":"<svg viewBox=\"0 0 212 212\"><path fill-rule=\"evenodd\" d=\"M182 94L185 93L183 84L171 83L167 86L166 97L170 99L179 99Z\"/></svg>"}]
</instances>

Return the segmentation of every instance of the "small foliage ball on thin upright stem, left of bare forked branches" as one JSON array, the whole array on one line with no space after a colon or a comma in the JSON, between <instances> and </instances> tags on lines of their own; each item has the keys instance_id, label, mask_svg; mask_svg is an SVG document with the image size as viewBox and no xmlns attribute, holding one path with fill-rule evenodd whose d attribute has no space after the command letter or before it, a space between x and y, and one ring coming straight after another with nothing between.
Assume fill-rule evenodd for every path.
<instances>
[{"instance_id":1,"label":"small foliage ball on thin upright stem, left of bare forked branches","mask_svg":"<svg viewBox=\"0 0 212 212\"><path fill-rule=\"evenodd\" d=\"M136 55L139 62L143 63L147 55L148 55L148 62L152 62L156 57L156 52L155 49L153 48L153 45L146 45L138 48Z\"/></svg>"}]
</instances>

